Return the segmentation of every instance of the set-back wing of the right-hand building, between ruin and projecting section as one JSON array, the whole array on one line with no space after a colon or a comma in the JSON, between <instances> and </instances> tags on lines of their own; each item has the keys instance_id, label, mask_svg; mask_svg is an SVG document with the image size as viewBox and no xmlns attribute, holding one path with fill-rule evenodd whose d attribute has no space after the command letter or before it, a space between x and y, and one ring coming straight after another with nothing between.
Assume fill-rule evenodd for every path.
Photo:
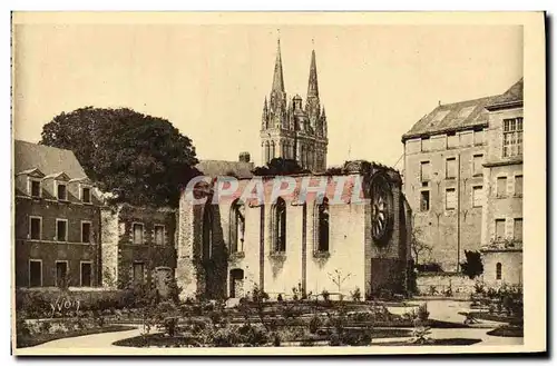
<instances>
[{"instance_id":1,"label":"set-back wing of the right-hand building, between ruin and projecting section","mask_svg":"<svg viewBox=\"0 0 557 366\"><path fill-rule=\"evenodd\" d=\"M418 258L456 271L479 250L488 112L492 98L439 105L402 136L412 226L432 250Z\"/></svg>"}]
</instances>

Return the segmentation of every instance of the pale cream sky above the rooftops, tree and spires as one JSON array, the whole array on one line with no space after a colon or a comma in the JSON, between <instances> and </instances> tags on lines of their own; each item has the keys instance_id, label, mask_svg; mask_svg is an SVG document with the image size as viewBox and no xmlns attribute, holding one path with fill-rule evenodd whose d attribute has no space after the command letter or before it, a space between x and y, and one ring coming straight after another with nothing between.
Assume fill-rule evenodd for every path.
<instances>
[{"instance_id":1,"label":"pale cream sky above the rooftops, tree and spires","mask_svg":"<svg viewBox=\"0 0 557 366\"><path fill-rule=\"evenodd\" d=\"M502 93L522 77L519 26L17 24L13 135L77 108L128 107L192 138L199 159L261 164L281 39L285 89L305 98L312 48L328 165L402 168L401 136L439 102Z\"/></svg>"}]
</instances>

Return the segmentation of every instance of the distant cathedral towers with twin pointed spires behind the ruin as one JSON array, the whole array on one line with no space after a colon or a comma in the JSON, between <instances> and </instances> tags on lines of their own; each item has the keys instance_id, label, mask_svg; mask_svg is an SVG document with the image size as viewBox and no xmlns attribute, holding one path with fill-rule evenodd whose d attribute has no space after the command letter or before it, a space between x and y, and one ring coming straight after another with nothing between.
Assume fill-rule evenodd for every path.
<instances>
[{"instance_id":1,"label":"distant cathedral towers with twin pointed spires behind the ruin","mask_svg":"<svg viewBox=\"0 0 557 366\"><path fill-rule=\"evenodd\" d=\"M315 51L312 50L305 106L296 95L289 99L284 89L281 42L276 51L273 86L263 105L261 123L262 161L295 159L311 171L326 169L326 117L320 103Z\"/></svg>"}]
</instances>

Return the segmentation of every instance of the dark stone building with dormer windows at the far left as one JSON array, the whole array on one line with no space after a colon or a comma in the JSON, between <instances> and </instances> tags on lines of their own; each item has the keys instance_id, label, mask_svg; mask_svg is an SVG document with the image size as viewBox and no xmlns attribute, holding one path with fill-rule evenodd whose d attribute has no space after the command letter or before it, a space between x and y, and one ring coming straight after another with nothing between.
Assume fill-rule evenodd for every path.
<instances>
[{"instance_id":1,"label":"dark stone building with dormer windows at the far left","mask_svg":"<svg viewBox=\"0 0 557 366\"><path fill-rule=\"evenodd\" d=\"M72 151L14 141L17 287L100 285L100 206Z\"/></svg>"}]
</instances>

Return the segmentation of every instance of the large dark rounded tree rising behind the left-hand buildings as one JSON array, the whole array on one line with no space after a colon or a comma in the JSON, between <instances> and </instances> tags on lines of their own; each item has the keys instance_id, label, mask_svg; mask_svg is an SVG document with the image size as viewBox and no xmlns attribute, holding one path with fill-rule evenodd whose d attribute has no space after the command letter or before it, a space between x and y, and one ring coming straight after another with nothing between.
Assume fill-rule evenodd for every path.
<instances>
[{"instance_id":1,"label":"large dark rounded tree rising behind the left-hand buildings","mask_svg":"<svg viewBox=\"0 0 557 366\"><path fill-rule=\"evenodd\" d=\"M177 206L198 174L192 140L168 120L127 108L80 108L42 128L42 145L76 154L87 176L114 201Z\"/></svg>"}]
</instances>

